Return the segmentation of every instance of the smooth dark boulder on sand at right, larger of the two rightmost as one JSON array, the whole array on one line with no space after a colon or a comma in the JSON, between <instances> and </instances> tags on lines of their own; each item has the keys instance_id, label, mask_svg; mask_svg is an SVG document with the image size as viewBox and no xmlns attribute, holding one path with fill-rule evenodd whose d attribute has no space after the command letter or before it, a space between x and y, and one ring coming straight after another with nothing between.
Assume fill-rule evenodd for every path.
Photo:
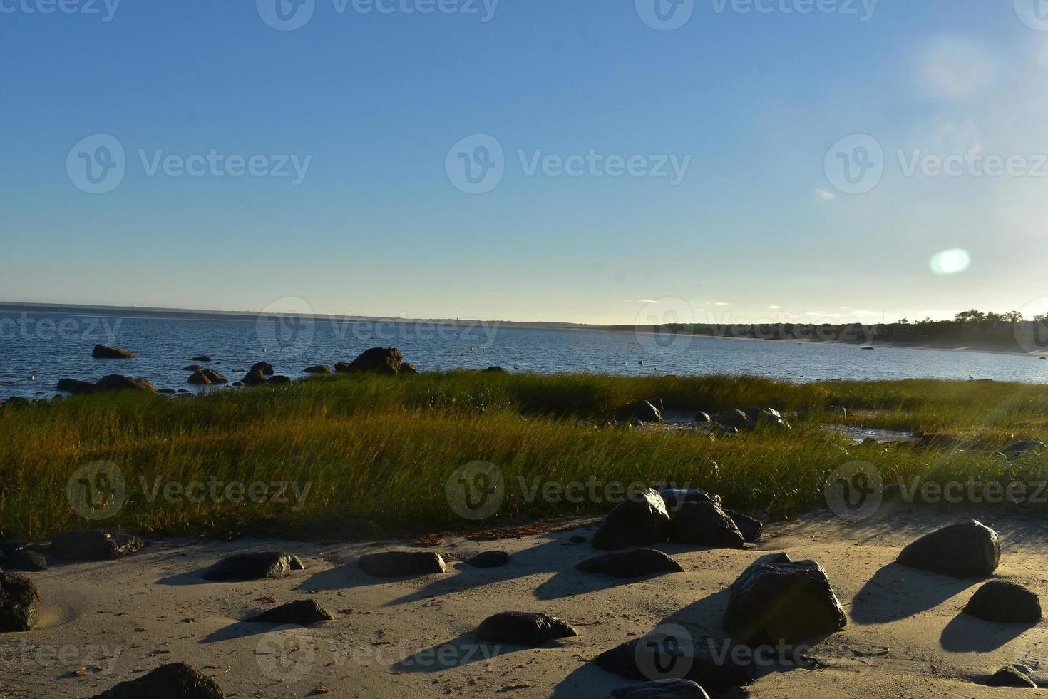
<instances>
[{"instance_id":1,"label":"smooth dark boulder on sand at right, larger of the two rightmost","mask_svg":"<svg viewBox=\"0 0 1048 699\"><path fill-rule=\"evenodd\" d=\"M976 520L925 534L903 548L898 558L900 565L954 577L986 577L1000 561L997 532Z\"/></svg>"}]
</instances>

